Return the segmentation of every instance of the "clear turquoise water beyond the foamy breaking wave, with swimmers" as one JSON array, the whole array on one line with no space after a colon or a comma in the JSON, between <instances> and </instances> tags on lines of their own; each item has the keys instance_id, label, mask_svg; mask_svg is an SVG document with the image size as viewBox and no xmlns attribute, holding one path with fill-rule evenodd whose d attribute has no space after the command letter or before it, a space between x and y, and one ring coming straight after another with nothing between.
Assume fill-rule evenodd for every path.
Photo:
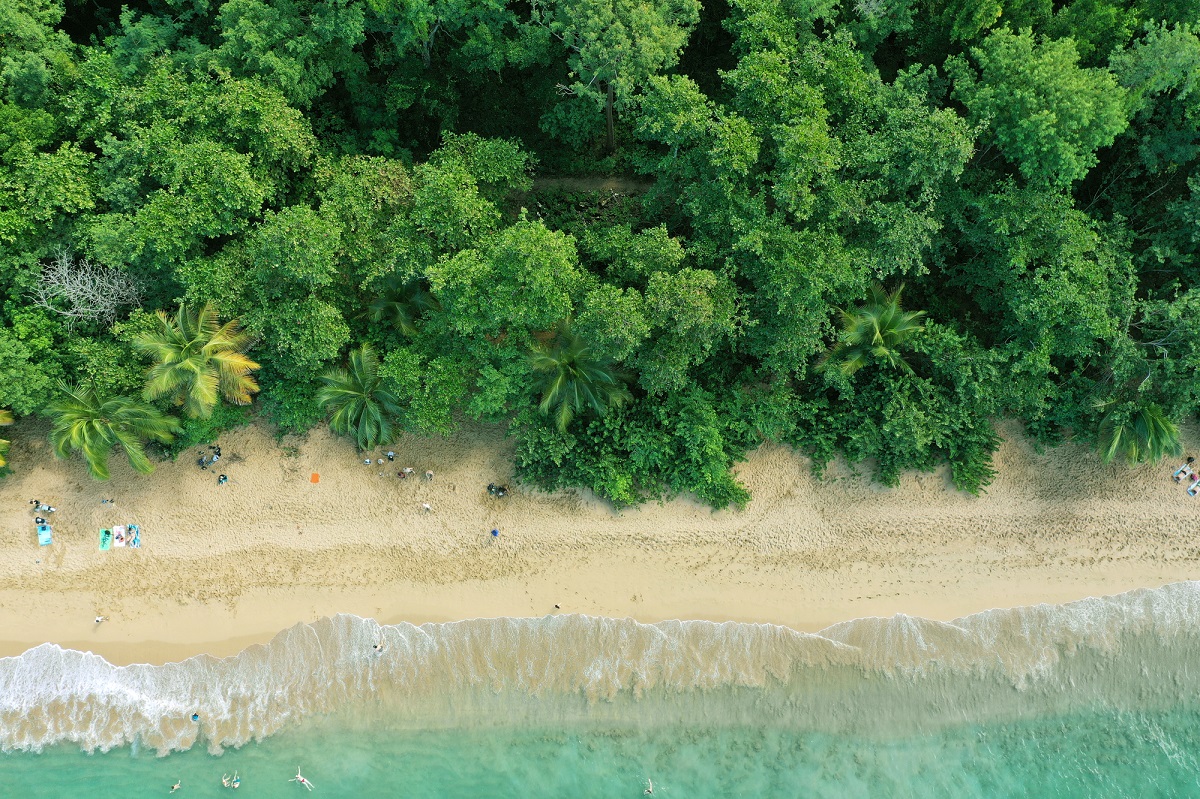
<instances>
[{"instance_id":1,"label":"clear turquoise water beyond the foamy breaking wave, with swimmers","mask_svg":"<svg viewBox=\"0 0 1200 799\"><path fill-rule=\"evenodd\" d=\"M869 739L776 727L577 727L412 731L314 719L260 744L155 757L128 747L53 747L0 757L5 795L116 799L320 797L1186 797L1200 792L1193 711L1093 713ZM19 792L16 787L19 786ZM8 789L14 791L7 793Z\"/></svg>"}]
</instances>

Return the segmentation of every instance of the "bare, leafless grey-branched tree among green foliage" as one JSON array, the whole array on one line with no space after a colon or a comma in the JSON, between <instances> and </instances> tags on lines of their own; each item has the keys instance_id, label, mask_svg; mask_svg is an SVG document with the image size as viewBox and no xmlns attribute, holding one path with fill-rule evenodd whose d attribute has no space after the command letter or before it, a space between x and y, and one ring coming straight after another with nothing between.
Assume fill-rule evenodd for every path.
<instances>
[{"instance_id":1,"label":"bare, leafless grey-branched tree among green foliage","mask_svg":"<svg viewBox=\"0 0 1200 799\"><path fill-rule=\"evenodd\" d=\"M121 307L142 302L138 281L119 269L76 260L67 250L42 269L31 292L34 304L67 318L67 329L77 322L113 324Z\"/></svg>"}]
</instances>

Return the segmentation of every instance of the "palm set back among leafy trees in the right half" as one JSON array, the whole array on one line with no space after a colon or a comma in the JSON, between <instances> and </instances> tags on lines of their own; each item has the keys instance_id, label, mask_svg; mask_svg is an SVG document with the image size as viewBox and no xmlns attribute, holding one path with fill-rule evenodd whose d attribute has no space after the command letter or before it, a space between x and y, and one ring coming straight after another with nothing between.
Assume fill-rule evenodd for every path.
<instances>
[{"instance_id":1,"label":"palm set back among leafy trees in the right half","mask_svg":"<svg viewBox=\"0 0 1200 799\"><path fill-rule=\"evenodd\" d=\"M833 350L821 361L818 368L838 364L844 374L853 374L870 361L878 361L892 368L912 372L912 367L900 355L900 347L925 329L920 318L924 311L901 311L900 293L904 286L888 294L876 283L871 296L853 311L841 311L841 334Z\"/></svg>"}]
</instances>

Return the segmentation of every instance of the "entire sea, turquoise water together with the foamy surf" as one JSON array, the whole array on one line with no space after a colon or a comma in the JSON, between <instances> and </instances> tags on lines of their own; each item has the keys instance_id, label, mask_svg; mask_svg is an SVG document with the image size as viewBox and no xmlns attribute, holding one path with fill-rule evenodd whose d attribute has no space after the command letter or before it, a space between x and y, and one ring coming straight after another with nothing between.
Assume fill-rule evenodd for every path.
<instances>
[{"instance_id":1,"label":"entire sea, turquoise water together with the foamy surf","mask_svg":"<svg viewBox=\"0 0 1200 799\"><path fill-rule=\"evenodd\" d=\"M44 645L0 659L0 797L307 795L298 767L323 797L1194 797L1198 656L1200 583L820 635L340 615L160 667Z\"/></svg>"}]
</instances>

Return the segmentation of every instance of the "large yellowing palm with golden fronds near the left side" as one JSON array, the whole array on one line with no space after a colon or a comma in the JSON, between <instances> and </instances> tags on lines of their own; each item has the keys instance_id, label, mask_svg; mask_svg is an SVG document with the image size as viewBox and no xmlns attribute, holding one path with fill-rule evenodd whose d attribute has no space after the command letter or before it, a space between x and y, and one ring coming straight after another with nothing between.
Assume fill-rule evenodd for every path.
<instances>
[{"instance_id":1,"label":"large yellowing palm with golden fronds near the left side","mask_svg":"<svg viewBox=\"0 0 1200 799\"><path fill-rule=\"evenodd\" d=\"M252 340L236 319L222 325L211 304L196 312L181 305L174 318L162 311L156 316L156 329L133 341L156 361L146 372L146 400L169 396L192 419L208 419L218 395L238 405L250 404L250 395L258 391L250 373L258 364L245 355Z\"/></svg>"}]
</instances>

